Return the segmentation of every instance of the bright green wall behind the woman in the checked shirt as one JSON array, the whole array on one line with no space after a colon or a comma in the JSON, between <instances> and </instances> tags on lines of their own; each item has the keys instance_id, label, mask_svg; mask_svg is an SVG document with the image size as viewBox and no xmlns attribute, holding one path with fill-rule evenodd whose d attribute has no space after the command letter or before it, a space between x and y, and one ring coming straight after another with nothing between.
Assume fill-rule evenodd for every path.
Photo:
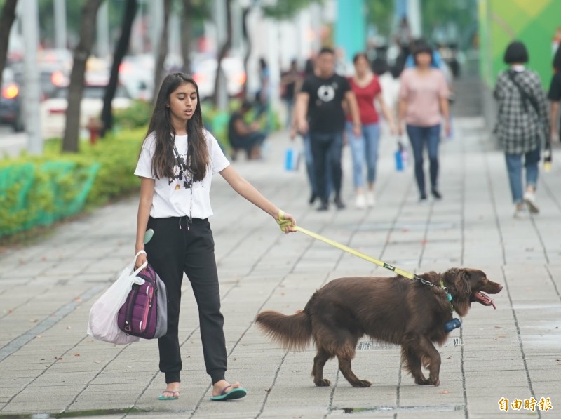
<instances>
[{"instance_id":1,"label":"bright green wall behind the woman in the checked shirt","mask_svg":"<svg viewBox=\"0 0 561 419\"><path fill-rule=\"evenodd\" d=\"M506 68L503 55L513 40L524 42L528 67L536 70L544 88L552 72L552 40L561 26L561 0L479 0L480 75L494 86L496 75Z\"/></svg>"}]
</instances>

